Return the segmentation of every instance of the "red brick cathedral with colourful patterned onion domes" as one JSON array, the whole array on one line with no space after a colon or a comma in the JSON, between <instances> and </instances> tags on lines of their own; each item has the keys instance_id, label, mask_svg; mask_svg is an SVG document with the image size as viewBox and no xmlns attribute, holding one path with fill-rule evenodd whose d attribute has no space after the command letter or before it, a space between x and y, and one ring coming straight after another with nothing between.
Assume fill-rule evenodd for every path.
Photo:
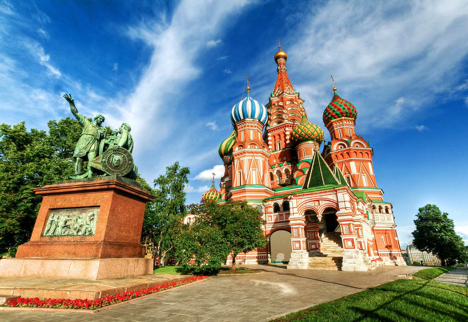
<instances>
[{"instance_id":1,"label":"red brick cathedral with colourful patterned onion domes","mask_svg":"<svg viewBox=\"0 0 468 322\"><path fill-rule=\"evenodd\" d=\"M331 137L326 143L323 130L307 119L286 59L280 46L268 104L252 99L248 86L247 96L232 108L234 130L219 145L225 165L220 189L213 180L203 195L220 203L247 200L263 213L266 248L239 254L236 261L342 271L406 265L392 205L375 179L373 149L355 133L356 108L333 88L323 112Z\"/></svg>"}]
</instances>

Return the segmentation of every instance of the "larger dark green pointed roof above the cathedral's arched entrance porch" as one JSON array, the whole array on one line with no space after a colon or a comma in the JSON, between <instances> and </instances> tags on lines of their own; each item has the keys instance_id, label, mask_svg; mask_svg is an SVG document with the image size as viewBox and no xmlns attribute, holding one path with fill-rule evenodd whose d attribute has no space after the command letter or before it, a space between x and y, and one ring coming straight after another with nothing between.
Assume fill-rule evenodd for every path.
<instances>
[{"instance_id":1,"label":"larger dark green pointed roof above the cathedral's arched entrance porch","mask_svg":"<svg viewBox=\"0 0 468 322\"><path fill-rule=\"evenodd\" d=\"M312 158L312 164L309 167L309 172L307 172L306 181L304 182L302 189L322 186L343 186L343 184L341 183L341 180L336 179L319 151L315 150L314 157Z\"/></svg>"}]
</instances>

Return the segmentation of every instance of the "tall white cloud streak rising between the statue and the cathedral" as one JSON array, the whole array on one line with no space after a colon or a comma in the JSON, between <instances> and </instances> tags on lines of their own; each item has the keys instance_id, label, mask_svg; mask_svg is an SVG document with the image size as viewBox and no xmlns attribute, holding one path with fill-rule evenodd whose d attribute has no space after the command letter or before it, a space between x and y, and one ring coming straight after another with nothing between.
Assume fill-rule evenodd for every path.
<instances>
[{"instance_id":1,"label":"tall white cloud streak rising between the statue and the cathedral","mask_svg":"<svg viewBox=\"0 0 468 322\"><path fill-rule=\"evenodd\" d=\"M185 0L180 2L170 19L163 19L171 21L168 25L146 21L128 27L128 36L143 40L154 48L135 90L120 104L120 117L129 124L139 124L132 131L140 146L158 149L163 144L171 144L166 139L184 115L180 108L168 106L176 104L178 95L184 93L184 86L200 77L202 70L194 61L202 50L206 50L205 44L221 31L229 15L238 14L244 4L243 0L222 3ZM155 123L158 125L154 126ZM185 135L185 131L182 129L178 136ZM136 147L134 153L138 155L143 150ZM144 153L147 155L148 151ZM175 153L181 155L182 151L179 149Z\"/></svg>"}]
</instances>

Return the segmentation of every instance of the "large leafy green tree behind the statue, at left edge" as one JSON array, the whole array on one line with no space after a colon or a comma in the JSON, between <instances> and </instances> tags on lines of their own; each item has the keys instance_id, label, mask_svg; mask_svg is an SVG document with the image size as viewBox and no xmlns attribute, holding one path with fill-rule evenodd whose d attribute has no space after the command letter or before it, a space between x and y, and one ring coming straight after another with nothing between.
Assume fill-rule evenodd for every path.
<instances>
[{"instance_id":1,"label":"large leafy green tree behind the statue, at left edge","mask_svg":"<svg viewBox=\"0 0 468 322\"><path fill-rule=\"evenodd\" d=\"M31 236L42 198L33 188L74 173L74 144L80 124L67 117L48 122L49 134L25 122L0 125L0 254L13 256ZM75 133L78 133L76 135Z\"/></svg>"}]
</instances>

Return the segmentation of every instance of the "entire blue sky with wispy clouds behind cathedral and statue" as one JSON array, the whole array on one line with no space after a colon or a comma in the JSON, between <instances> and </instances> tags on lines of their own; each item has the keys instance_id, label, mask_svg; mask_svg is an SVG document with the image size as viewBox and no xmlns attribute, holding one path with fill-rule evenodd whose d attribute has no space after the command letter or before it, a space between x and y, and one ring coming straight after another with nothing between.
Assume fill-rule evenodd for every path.
<instances>
[{"instance_id":1,"label":"entire blue sky with wispy clouds behind cathedral and statue","mask_svg":"<svg viewBox=\"0 0 468 322\"><path fill-rule=\"evenodd\" d=\"M0 122L47 129L70 92L81 114L132 126L148 182L189 166L198 202L245 76L268 102L278 38L311 122L325 129L330 75L356 106L402 247L427 203L468 242L467 1L0 0Z\"/></svg>"}]
</instances>

